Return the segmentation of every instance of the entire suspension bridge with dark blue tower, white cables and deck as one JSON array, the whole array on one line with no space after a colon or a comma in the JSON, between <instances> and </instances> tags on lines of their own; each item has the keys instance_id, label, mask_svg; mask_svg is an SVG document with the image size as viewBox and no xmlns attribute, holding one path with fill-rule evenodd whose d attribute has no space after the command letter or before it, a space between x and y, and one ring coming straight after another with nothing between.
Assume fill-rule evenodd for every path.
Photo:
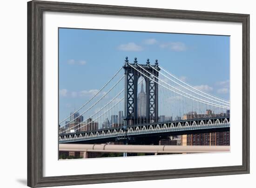
<instances>
[{"instance_id":1,"label":"entire suspension bridge with dark blue tower, white cables and deck","mask_svg":"<svg viewBox=\"0 0 256 188\"><path fill-rule=\"evenodd\" d=\"M228 100L188 84L157 60L139 64L126 57L101 89L60 121L59 143L157 144L170 135L225 132L229 108Z\"/></svg>"}]
</instances>

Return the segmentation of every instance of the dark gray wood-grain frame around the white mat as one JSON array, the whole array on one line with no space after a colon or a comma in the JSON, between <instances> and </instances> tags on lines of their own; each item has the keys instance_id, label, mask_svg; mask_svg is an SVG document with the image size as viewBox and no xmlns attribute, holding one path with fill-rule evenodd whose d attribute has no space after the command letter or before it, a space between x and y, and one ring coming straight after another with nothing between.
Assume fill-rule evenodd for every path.
<instances>
[{"instance_id":1,"label":"dark gray wood-grain frame around the white mat","mask_svg":"<svg viewBox=\"0 0 256 188\"><path fill-rule=\"evenodd\" d=\"M42 15L44 11L239 22L243 25L243 164L196 169L136 171L94 175L43 177L43 58ZM27 185L46 187L107 182L249 173L249 15L199 11L30 1L27 3Z\"/></svg>"}]
</instances>

